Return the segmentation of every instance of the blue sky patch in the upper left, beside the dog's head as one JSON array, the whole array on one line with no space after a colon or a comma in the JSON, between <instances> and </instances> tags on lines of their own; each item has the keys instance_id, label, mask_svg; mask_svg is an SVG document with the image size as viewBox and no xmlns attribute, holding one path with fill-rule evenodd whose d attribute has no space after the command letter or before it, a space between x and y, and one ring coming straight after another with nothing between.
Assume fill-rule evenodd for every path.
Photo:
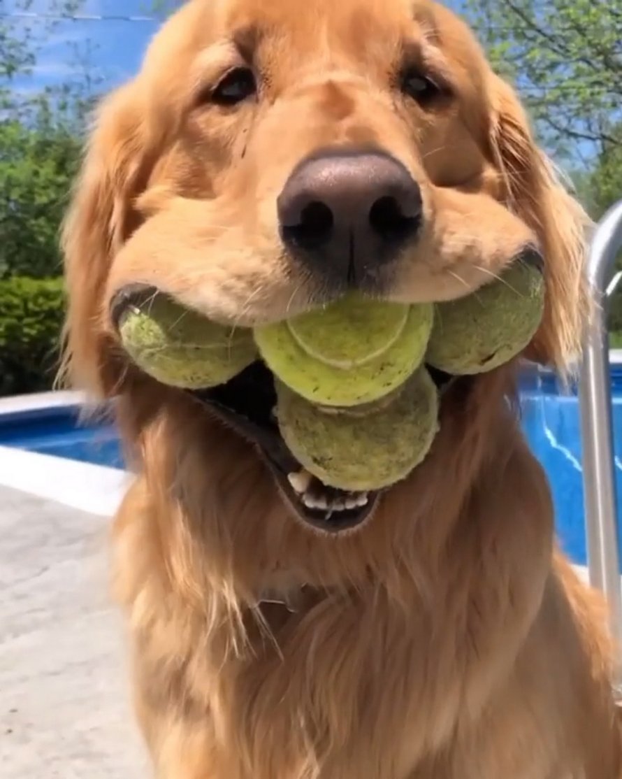
<instances>
[{"instance_id":1,"label":"blue sky patch in the upper left, beside the dog's head","mask_svg":"<svg viewBox=\"0 0 622 779\"><path fill-rule=\"evenodd\" d=\"M80 79L84 71L80 62L85 58L102 86L110 88L138 69L159 26L156 20L144 18L149 16L150 0L85 0L79 15L100 18L71 21L51 18L54 0L32 0L29 15L21 17L24 2L27 0L0 0L0 22L9 21L18 31L28 26L39 42L33 73L13 84L23 92ZM448 2L455 8L459 4L460 0Z\"/></svg>"}]
</instances>

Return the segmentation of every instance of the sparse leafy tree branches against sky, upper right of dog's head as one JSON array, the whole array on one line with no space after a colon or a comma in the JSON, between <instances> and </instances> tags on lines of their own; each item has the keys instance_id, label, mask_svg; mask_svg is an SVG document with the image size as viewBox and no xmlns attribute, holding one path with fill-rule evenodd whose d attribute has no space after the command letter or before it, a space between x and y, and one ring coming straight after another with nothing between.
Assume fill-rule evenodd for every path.
<instances>
[{"instance_id":1,"label":"sparse leafy tree branches against sky, upper right of dog's head","mask_svg":"<svg viewBox=\"0 0 622 779\"><path fill-rule=\"evenodd\" d=\"M466 0L497 70L550 150L575 164L622 145L620 0Z\"/></svg>"}]
</instances>

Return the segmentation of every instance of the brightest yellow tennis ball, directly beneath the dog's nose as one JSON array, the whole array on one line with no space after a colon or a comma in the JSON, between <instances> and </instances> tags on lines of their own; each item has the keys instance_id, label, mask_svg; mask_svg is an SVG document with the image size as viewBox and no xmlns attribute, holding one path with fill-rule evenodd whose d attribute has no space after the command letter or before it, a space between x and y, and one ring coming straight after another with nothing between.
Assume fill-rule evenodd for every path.
<instances>
[{"instance_id":1,"label":"brightest yellow tennis ball, directly beneath the dog's nose","mask_svg":"<svg viewBox=\"0 0 622 779\"><path fill-rule=\"evenodd\" d=\"M430 305L350 294L336 303L255 329L266 365L313 403L354 406L390 393L423 360Z\"/></svg>"}]
</instances>

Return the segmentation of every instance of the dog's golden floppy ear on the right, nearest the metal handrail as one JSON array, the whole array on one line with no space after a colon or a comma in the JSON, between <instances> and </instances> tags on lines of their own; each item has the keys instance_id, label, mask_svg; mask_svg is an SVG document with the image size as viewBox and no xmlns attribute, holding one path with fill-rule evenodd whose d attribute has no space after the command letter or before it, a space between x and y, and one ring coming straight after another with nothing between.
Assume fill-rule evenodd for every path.
<instances>
[{"instance_id":1,"label":"dog's golden floppy ear on the right, nearest the metal handrail","mask_svg":"<svg viewBox=\"0 0 622 779\"><path fill-rule=\"evenodd\" d=\"M513 90L494 76L490 141L506 203L539 238L546 281L542 325L525 356L562 374L581 352L589 298L585 283L589 217L539 150Z\"/></svg>"}]
</instances>

